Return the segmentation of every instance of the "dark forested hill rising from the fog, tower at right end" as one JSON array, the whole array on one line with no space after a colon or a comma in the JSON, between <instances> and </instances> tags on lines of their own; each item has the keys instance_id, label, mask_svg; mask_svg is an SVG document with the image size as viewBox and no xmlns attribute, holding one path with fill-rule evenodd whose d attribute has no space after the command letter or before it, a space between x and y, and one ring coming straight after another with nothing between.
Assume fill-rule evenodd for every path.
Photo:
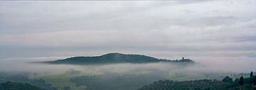
<instances>
[{"instance_id":1,"label":"dark forested hill rising from the fog, tower at right end","mask_svg":"<svg viewBox=\"0 0 256 90\"><path fill-rule=\"evenodd\" d=\"M50 64L112 64L112 63L150 63L150 62L193 62L189 59L162 60L145 55L125 55L121 53L109 53L94 57L69 57L64 60L55 60Z\"/></svg>"}]
</instances>

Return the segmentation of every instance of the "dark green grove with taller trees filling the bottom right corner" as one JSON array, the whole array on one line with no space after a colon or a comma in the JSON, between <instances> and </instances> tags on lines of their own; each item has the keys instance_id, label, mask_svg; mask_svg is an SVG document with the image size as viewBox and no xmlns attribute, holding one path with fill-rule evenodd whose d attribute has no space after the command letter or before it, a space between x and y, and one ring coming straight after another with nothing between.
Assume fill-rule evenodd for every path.
<instances>
[{"instance_id":1,"label":"dark green grove with taller trees filling the bottom right corner","mask_svg":"<svg viewBox=\"0 0 256 90\"><path fill-rule=\"evenodd\" d=\"M202 79L193 81L159 80L138 90L256 90L256 76L240 77L233 81L230 77L223 80Z\"/></svg>"}]
</instances>

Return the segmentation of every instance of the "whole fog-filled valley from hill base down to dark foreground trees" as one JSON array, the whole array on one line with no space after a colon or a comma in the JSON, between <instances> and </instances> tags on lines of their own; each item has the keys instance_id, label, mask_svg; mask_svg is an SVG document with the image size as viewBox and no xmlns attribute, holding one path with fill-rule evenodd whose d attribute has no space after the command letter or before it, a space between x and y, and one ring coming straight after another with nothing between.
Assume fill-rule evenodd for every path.
<instances>
[{"instance_id":1,"label":"whole fog-filled valley from hill base down to dark foreground trees","mask_svg":"<svg viewBox=\"0 0 256 90\"><path fill-rule=\"evenodd\" d=\"M256 61L246 57L195 57L193 64L182 62L93 65L39 63L65 58L1 59L0 82L18 81L49 90L64 89L65 86L69 86L72 90L133 90L159 80L223 79L225 76L238 78L248 77L250 71L256 71Z\"/></svg>"}]
</instances>

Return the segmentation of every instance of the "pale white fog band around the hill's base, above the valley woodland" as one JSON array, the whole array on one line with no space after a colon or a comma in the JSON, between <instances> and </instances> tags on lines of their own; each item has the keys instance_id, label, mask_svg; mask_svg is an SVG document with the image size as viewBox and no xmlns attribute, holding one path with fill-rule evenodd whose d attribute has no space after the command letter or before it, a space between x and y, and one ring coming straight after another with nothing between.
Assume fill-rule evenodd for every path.
<instances>
[{"instance_id":1,"label":"pale white fog band around the hill's base, above the valley woodland","mask_svg":"<svg viewBox=\"0 0 256 90\"><path fill-rule=\"evenodd\" d=\"M165 74L166 77L186 75L186 77L198 77L205 74L238 74L255 71L256 61L245 57L197 57L195 64L175 63L149 63L149 64L42 64L38 62L64 59L65 57L31 57L9 58L0 60L0 72L31 72L37 75L65 74L69 71L79 71L82 75L92 74ZM220 59L222 58L222 60ZM246 59L246 60L245 60ZM193 79L192 78L192 79ZM201 77L210 78L210 77ZM217 78L217 77L214 77ZM169 78L175 79L175 78Z\"/></svg>"}]
</instances>

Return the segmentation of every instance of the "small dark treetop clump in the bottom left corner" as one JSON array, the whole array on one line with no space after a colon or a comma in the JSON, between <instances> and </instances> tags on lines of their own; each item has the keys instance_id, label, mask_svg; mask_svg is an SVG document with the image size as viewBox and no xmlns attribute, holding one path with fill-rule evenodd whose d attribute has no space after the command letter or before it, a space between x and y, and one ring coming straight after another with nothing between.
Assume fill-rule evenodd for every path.
<instances>
[{"instance_id":1,"label":"small dark treetop clump in the bottom left corner","mask_svg":"<svg viewBox=\"0 0 256 90\"><path fill-rule=\"evenodd\" d=\"M0 90L46 90L30 84L7 81L0 84Z\"/></svg>"}]
</instances>

